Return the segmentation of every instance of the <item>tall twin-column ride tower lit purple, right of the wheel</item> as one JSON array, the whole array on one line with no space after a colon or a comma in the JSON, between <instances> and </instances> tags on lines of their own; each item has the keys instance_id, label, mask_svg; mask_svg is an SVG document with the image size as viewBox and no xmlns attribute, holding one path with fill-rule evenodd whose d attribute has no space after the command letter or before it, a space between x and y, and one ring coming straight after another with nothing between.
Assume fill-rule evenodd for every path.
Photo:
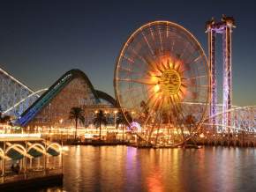
<instances>
[{"instance_id":1,"label":"tall twin-column ride tower lit purple, right of the wheel","mask_svg":"<svg viewBox=\"0 0 256 192\"><path fill-rule=\"evenodd\" d=\"M215 22L215 19L207 21L208 33L208 62L211 73L211 102L210 116L217 113L217 81L216 81L216 34L222 34L222 62L223 62L223 96L222 96L222 128L219 131L230 132L230 113L231 108L231 33L235 27L235 19L222 15L221 22ZM215 125L216 118L212 118L211 124ZM214 126L215 127L215 126Z\"/></svg>"}]
</instances>

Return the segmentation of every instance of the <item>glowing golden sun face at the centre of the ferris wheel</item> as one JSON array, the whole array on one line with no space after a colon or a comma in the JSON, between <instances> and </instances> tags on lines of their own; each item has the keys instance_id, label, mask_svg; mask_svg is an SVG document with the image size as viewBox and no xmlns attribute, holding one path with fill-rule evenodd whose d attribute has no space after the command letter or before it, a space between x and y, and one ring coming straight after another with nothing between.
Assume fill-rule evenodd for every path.
<instances>
[{"instance_id":1,"label":"glowing golden sun face at the centre of the ferris wheel","mask_svg":"<svg viewBox=\"0 0 256 192\"><path fill-rule=\"evenodd\" d=\"M169 107L169 104L181 102L184 99L187 81L184 78L183 63L179 59L173 59L164 55L159 61L154 62L148 69L148 83L152 83L151 103L161 98L162 108Z\"/></svg>"}]
</instances>

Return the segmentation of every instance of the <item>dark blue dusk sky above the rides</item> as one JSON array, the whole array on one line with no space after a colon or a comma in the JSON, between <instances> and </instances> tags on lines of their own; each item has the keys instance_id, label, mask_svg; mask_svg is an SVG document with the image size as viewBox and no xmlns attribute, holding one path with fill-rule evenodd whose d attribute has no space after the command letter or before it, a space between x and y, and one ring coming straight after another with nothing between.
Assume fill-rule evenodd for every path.
<instances>
[{"instance_id":1,"label":"dark blue dusk sky above the rides","mask_svg":"<svg viewBox=\"0 0 256 192\"><path fill-rule=\"evenodd\" d=\"M154 20L176 22L192 32L207 53L206 21L233 16L237 28L232 33L232 103L256 105L253 0L0 2L1 68L34 90L49 87L67 70L83 70L95 89L112 96L117 56L139 26ZM221 101L221 59L217 70Z\"/></svg>"}]
</instances>

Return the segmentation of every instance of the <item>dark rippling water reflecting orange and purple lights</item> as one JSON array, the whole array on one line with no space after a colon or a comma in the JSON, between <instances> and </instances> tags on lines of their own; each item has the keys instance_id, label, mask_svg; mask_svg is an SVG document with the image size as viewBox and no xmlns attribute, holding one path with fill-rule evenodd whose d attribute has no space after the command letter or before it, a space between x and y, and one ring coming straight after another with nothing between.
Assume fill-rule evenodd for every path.
<instances>
[{"instance_id":1,"label":"dark rippling water reflecting orange and purple lights","mask_svg":"<svg viewBox=\"0 0 256 192\"><path fill-rule=\"evenodd\" d=\"M64 186L43 191L256 191L256 149L71 146Z\"/></svg>"}]
</instances>

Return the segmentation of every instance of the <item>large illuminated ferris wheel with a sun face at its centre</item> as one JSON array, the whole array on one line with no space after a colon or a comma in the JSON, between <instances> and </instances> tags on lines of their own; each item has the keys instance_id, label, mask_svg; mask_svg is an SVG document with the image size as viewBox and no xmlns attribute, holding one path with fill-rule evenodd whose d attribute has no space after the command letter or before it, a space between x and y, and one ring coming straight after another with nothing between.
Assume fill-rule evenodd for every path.
<instances>
[{"instance_id":1,"label":"large illuminated ferris wheel with a sun face at its centre","mask_svg":"<svg viewBox=\"0 0 256 192\"><path fill-rule=\"evenodd\" d=\"M207 112L207 57L183 26L154 21L124 43L114 86L126 120L140 124L137 134L143 142L183 144L200 129Z\"/></svg>"}]
</instances>

